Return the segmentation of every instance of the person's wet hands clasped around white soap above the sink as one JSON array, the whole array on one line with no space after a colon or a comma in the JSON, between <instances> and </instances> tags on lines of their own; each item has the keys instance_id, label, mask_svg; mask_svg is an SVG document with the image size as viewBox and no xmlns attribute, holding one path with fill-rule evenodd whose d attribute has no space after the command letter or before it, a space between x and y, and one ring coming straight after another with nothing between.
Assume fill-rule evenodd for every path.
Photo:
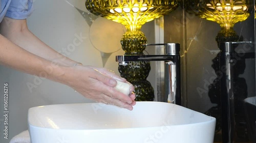
<instances>
[{"instance_id":1,"label":"person's wet hands clasped around white soap above the sink","mask_svg":"<svg viewBox=\"0 0 256 143\"><path fill-rule=\"evenodd\" d=\"M113 72L104 68L95 68L92 66L77 65L70 67L68 75L68 85L84 97L101 102L126 108L133 109L136 104L134 87L131 86L131 94L125 95L115 89L117 81L127 82Z\"/></svg>"}]
</instances>

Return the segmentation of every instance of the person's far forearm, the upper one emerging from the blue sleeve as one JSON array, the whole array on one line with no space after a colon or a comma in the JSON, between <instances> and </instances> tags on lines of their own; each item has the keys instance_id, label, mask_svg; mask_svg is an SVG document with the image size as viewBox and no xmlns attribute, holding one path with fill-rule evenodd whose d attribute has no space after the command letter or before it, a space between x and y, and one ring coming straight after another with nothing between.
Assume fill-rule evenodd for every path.
<instances>
[{"instance_id":1,"label":"person's far forearm, the upper one emerging from the blue sleeve","mask_svg":"<svg viewBox=\"0 0 256 143\"><path fill-rule=\"evenodd\" d=\"M77 63L55 51L32 34L28 30L26 20L16 20L5 17L1 23L1 34L19 47L41 58L64 66L73 66Z\"/></svg>"}]
</instances>

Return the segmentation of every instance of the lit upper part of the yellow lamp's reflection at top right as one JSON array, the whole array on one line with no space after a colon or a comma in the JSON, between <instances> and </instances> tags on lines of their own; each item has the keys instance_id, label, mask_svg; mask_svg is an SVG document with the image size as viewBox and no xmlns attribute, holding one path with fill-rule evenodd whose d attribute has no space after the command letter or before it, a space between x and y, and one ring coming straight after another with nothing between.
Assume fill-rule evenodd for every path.
<instances>
[{"instance_id":1,"label":"lit upper part of the yellow lamp's reflection at top right","mask_svg":"<svg viewBox=\"0 0 256 143\"><path fill-rule=\"evenodd\" d=\"M216 37L217 42L238 41L239 36L233 30L235 23L246 20L250 13L248 0L185 0L185 9L197 16L220 24L221 31Z\"/></svg>"}]
</instances>

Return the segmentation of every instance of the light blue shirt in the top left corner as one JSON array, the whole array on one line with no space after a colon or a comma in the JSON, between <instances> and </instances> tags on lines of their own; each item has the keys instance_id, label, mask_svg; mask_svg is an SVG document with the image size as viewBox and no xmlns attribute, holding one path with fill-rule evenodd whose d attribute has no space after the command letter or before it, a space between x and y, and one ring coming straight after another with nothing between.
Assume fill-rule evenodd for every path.
<instances>
[{"instance_id":1,"label":"light blue shirt in the top left corner","mask_svg":"<svg viewBox=\"0 0 256 143\"><path fill-rule=\"evenodd\" d=\"M26 19L33 10L33 0L0 0L0 22L5 16L13 19Z\"/></svg>"}]
</instances>

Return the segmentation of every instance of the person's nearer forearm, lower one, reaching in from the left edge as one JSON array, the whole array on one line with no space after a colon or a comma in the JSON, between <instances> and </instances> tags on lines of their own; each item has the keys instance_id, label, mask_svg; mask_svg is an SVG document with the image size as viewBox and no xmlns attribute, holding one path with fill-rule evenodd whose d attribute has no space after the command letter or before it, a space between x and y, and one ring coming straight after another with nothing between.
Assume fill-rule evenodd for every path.
<instances>
[{"instance_id":1,"label":"person's nearer forearm, lower one, reaching in from the left edge","mask_svg":"<svg viewBox=\"0 0 256 143\"><path fill-rule=\"evenodd\" d=\"M65 75L65 66L56 65L49 60L20 48L0 35L0 64L37 76L61 82Z\"/></svg>"}]
</instances>

